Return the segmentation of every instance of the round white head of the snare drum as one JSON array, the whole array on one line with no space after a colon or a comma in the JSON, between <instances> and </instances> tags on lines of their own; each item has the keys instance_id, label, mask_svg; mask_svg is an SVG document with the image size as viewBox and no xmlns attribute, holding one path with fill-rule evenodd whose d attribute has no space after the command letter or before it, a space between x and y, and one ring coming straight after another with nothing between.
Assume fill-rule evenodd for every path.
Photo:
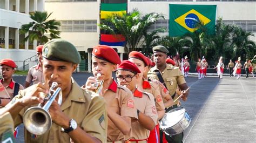
<instances>
[{"instance_id":1,"label":"round white head of the snare drum","mask_svg":"<svg viewBox=\"0 0 256 143\"><path fill-rule=\"evenodd\" d=\"M160 121L160 128L165 129L165 128L170 128L174 125L176 125L183 117L185 114L185 108L183 107L176 107L167 112L163 119Z\"/></svg>"}]
</instances>

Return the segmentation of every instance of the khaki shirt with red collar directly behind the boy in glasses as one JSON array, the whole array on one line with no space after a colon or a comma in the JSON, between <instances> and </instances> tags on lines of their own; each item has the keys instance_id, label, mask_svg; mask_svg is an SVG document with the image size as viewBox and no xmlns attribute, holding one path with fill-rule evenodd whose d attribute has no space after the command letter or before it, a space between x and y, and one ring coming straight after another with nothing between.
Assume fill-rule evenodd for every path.
<instances>
[{"instance_id":1,"label":"khaki shirt with red collar directly behind the boy in glasses","mask_svg":"<svg viewBox=\"0 0 256 143\"><path fill-rule=\"evenodd\" d=\"M164 110L164 102L163 98L161 97L159 86L156 83L151 81L144 80L143 81L143 89L142 91L150 93L154 96L154 101L156 103L157 111Z\"/></svg>"}]
</instances>

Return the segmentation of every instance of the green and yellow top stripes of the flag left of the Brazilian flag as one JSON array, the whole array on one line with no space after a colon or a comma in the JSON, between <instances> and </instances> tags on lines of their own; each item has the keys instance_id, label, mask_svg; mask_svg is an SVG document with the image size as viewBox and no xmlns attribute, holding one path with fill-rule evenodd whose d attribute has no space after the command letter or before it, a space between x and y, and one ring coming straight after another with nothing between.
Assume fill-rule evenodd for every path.
<instances>
[{"instance_id":1,"label":"green and yellow top stripes of the flag left of the Brazilian flag","mask_svg":"<svg viewBox=\"0 0 256 143\"><path fill-rule=\"evenodd\" d=\"M122 16L126 13L127 3L102 3L100 4L100 19L105 19L113 13Z\"/></svg>"}]
</instances>

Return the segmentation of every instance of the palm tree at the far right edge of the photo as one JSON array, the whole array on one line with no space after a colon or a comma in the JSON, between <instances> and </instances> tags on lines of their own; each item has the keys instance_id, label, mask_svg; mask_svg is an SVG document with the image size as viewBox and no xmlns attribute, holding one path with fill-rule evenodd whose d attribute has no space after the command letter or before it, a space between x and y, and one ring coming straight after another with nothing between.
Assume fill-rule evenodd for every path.
<instances>
[{"instance_id":1,"label":"palm tree at the far right edge of the photo","mask_svg":"<svg viewBox=\"0 0 256 143\"><path fill-rule=\"evenodd\" d=\"M252 32L246 32L239 27L234 28L232 47L234 50L234 57L240 57L242 60L252 58L255 55L255 43L250 40L250 36L254 36Z\"/></svg>"}]
</instances>

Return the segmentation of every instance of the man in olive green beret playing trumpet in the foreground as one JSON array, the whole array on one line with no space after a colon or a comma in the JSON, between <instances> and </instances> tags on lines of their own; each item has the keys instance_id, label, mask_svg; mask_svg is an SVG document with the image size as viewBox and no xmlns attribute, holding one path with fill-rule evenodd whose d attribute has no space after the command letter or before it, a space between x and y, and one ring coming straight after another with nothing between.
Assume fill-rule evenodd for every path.
<instances>
[{"instance_id":1,"label":"man in olive green beret playing trumpet in the foreground","mask_svg":"<svg viewBox=\"0 0 256 143\"><path fill-rule=\"evenodd\" d=\"M45 83L38 83L20 91L10 104L26 95L39 96L41 93L50 93L49 87L53 82L62 89L62 104L53 101L49 108L53 122L51 128L41 135L25 131L25 142L106 142L107 113L104 99L95 93L83 90L71 77L79 62L80 55L76 47L66 40L53 39L44 45ZM19 112L15 118L15 125L23 122L25 111ZM33 121L30 124L35 130L45 127L37 127L40 124L36 123L32 125Z\"/></svg>"}]
</instances>

